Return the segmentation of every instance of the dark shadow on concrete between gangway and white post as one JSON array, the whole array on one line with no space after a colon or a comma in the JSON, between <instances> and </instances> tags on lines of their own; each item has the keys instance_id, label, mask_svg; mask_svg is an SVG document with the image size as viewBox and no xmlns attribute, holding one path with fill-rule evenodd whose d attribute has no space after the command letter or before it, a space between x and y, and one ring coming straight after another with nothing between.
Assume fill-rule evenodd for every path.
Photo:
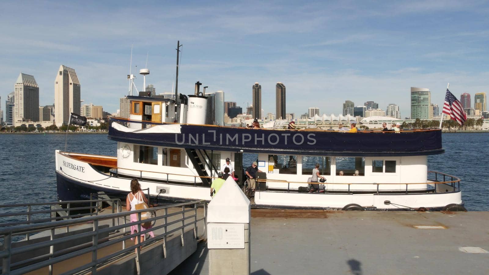
<instances>
[{"instance_id":1,"label":"dark shadow on concrete between gangway and white post","mask_svg":"<svg viewBox=\"0 0 489 275\"><path fill-rule=\"evenodd\" d=\"M207 253L207 242L198 243L197 250L168 275L209 274Z\"/></svg>"}]
</instances>

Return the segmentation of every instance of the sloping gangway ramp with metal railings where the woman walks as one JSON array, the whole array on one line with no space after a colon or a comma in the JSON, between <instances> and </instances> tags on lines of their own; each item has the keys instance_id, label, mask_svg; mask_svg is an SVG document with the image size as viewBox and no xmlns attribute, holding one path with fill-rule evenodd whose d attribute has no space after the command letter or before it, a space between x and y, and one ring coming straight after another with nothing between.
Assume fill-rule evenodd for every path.
<instances>
[{"instance_id":1,"label":"sloping gangway ramp with metal railings where the woman walks","mask_svg":"<svg viewBox=\"0 0 489 275\"><path fill-rule=\"evenodd\" d=\"M0 214L4 220L9 215L18 218L0 224L1 273L167 274L197 250L205 232L205 201L150 208L150 219L135 222L131 222L131 214L140 216L147 210L121 211L120 201L111 201L112 207L88 214L73 214L74 208L92 207L77 204L87 201L71 202L76 207L62 217L33 219L42 211L59 211L57 207L32 210L33 206L29 206L27 211ZM55 203L46 203L52 204ZM19 220L22 215L28 218ZM79 216L70 218L73 215ZM151 228L141 228L148 222ZM132 233L132 226L140 233ZM154 237L150 237L150 232ZM137 238L138 235L144 237Z\"/></svg>"}]
</instances>

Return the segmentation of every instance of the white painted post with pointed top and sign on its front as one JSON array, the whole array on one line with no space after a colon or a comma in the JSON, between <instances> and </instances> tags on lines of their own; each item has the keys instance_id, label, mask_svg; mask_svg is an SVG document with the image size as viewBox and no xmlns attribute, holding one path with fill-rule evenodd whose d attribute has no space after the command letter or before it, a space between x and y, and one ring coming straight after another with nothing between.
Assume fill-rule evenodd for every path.
<instances>
[{"instance_id":1,"label":"white painted post with pointed top and sign on its front","mask_svg":"<svg viewBox=\"0 0 489 275\"><path fill-rule=\"evenodd\" d=\"M251 207L229 177L209 203L207 248L210 275L250 274Z\"/></svg>"}]
</instances>

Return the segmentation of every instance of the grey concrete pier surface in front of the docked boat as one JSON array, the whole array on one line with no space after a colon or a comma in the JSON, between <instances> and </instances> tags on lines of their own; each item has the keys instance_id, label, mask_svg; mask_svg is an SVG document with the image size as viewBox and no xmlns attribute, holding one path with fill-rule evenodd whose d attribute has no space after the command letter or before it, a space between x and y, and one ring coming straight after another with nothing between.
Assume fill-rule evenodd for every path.
<instances>
[{"instance_id":1,"label":"grey concrete pier surface in front of the docked boat","mask_svg":"<svg viewBox=\"0 0 489 275\"><path fill-rule=\"evenodd\" d=\"M252 210L251 274L489 274L488 221L489 212ZM170 274L208 274L208 258L201 243Z\"/></svg>"}]
</instances>

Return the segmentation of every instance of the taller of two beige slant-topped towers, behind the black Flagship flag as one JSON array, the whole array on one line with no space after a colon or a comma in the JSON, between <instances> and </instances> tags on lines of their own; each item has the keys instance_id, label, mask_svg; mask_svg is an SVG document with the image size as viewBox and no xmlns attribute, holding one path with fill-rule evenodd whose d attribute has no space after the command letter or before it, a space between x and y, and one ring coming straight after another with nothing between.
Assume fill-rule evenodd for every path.
<instances>
[{"instance_id":1,"label":"taller of two beige slant-topped towers, behind the black Flagship flag","mask_svg":"<svg viewBox=\"0 0 489 275\"><path fill-rule=\"evenodd\" d=\"M54 123L60 127L67 125L70 113L80 111L80 82L74 69L60 66L54 80Z\"/></svg>"}]
</instances>

